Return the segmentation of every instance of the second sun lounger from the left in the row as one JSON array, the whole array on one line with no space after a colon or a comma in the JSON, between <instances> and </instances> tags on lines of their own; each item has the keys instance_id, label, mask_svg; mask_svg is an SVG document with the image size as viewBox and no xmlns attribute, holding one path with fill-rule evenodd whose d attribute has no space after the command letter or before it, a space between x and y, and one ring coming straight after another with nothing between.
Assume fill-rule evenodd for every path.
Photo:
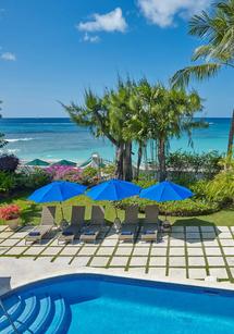
<instances>
[{"instance_id":1,"label":"second sun lounger from the left in the row","mask_svg":"<svg viewBox=\"0 0 234 334\"><path fill-rule=\"evenodd\" d=\"M58 238L59 243L73 243L85 223L85 207L73 206L71 224L65 227Z\"/></svg>"}]
</instances>

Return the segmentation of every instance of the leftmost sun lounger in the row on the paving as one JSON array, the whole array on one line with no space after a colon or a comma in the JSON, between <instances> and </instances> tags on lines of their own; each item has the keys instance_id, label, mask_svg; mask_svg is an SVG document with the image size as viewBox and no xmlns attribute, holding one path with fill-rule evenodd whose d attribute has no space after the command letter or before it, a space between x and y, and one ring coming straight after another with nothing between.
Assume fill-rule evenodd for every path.
<instances>
[{"instance_id":1,"label":"leftmost sun lounger in the row on the paving","mask_svg":"<svg viewBox=\"0 0 234 334\"><path fill-rule=\"evenodd\" d=\"M56 207L42 207L40 225L35 226L25 237L26 243L41 242L46 234L56 226Z\"/></svg>"}]
</instances>

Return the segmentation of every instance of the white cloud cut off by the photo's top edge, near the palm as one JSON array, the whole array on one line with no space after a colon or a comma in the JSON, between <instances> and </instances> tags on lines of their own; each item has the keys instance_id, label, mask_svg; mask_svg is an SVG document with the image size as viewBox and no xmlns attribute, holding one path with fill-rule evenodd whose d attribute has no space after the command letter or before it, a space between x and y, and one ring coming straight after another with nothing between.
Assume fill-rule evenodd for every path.
<instances>
[{"instance_id":1,"label":"white cloud cut off by the photo's top edge, near the palm","mask_svg":"<svg viewBox=\"0 0 234 334\"><path fill-rule=\"evenodd\" d=\"M212 0L137 0L144 16L160 27L174 24L176 15L182 17L207 9Z\"/></svg>"}]
</instances>

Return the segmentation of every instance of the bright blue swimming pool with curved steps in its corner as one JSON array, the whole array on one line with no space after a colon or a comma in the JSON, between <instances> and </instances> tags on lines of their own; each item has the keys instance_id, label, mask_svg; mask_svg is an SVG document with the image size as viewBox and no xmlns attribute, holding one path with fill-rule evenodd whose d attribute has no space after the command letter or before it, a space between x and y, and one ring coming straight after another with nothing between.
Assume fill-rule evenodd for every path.
<instances>
[{"instance_id":1,"label":"bright blue swimming pool with curved steps in its corner","mask_svg":"<svg viewBox=\"0 0 234 334\"><path fill-rule=\"evenodd\" d=\"M20 333L234 333L234 292L97 274L12 290L3 305ZM0 310L0 333L14 333Z\"/></svg>"}]
</instances>

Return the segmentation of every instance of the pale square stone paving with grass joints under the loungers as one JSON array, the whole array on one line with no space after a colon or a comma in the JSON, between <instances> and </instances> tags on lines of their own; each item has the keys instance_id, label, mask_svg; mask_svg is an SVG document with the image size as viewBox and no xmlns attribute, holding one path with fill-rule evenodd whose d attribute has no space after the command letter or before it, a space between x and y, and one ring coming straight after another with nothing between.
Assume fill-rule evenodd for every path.
<instances>
[{"instance_id":1,"label":"pale square stone paving with grass joints under the loungers","mask_svg":"<svg viewBox=\"0 0 234 334\"><path fill-rule=\"evenodd\" d=\"M164 234L160 243L119 243L118 234L103 227L96 244L58 245L53 232L41 244L25 245L30 231L11 232L0 225L0 258L30 258L79 267L104 268L113 272L150 273L174 279L204 280L207 275L234 283L234 226L180 226Z\"/></svg>"}]
</instances>

